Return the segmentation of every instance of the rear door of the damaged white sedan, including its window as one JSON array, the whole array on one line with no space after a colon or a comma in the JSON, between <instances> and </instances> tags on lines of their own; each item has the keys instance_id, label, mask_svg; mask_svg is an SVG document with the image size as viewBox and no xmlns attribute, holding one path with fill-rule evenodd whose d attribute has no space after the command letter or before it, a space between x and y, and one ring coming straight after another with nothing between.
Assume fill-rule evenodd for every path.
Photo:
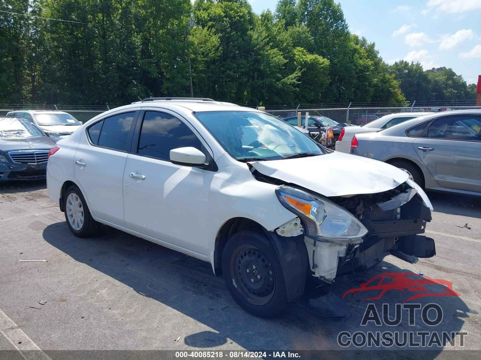
<instances>
[{"instance_id":1,"label":"rear door of the damaged white sedan, including its window","mask_svg":"<svg viewBox=\"0 0 481 360\"><path fill-rule=\"evenodd\" d=\"M95 121L74 156L75 178L90 211L102 220L124 226L122 179L139 111L129 109Z\"/></svg>"}]
</instances>

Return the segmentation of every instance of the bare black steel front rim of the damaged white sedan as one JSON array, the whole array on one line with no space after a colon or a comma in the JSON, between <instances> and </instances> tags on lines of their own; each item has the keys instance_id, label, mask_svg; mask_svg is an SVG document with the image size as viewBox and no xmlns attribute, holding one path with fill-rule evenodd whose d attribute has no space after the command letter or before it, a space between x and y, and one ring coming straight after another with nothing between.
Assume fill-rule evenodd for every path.
<instances>
[{"instance_id":1,"label":"bare black steel front rim of the damaged white sedan","mask_svg":"<svg viewBox=\"0 0 481 360\"><path fill-rule=\"evenodd\" d=\"M230 258L234 286L254 305L264 305L272 299L276 275L267 256L252 245L239 246Z\"/></svg>"}]
</instances>

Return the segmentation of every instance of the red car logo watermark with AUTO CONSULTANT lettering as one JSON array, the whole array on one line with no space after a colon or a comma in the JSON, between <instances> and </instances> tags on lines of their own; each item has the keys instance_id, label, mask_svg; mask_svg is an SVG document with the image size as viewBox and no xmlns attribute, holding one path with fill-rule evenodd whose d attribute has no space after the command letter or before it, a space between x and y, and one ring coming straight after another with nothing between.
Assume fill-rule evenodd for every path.
<instances>
[{"instance_id":1,"label":"red car logo watermark with AUTO CONSULTANT lettering","mask_svg":"<svg viewBox=\"0 0 481 360\"><path fill-rule=\"evenodd\" d=\"M467 332L436 331L435 327L443 321L443 308L439 304L429 303L421 305L418 303L406 303L406 301L424 297L460 296L453 290L453 284L450 281L432 279L423 274L384 273L374 276L367 283L362 283L359 288L347 290L344 293L343 299L348 294L356 296L356 293L359 293L371 294L370 298L363 300L378 300L389 290L397 290L399 292L403 298L401 303L394 305L383 303L379 311L377 308L377 306L380 306L379 304L369 303L360 325L384 325L392 328L392 330L342 331L337 336L339 346L342 348L350 346L356 348L390 348L392 346L398 348L435 348L464 346L466 336L468 336ZM372 294L375 296L372 296ZM418 322L422 322L422 324L416 324L417 319ZM413 331L396 330L396 326L402 326L406 323L412 326ZM414 331L415 328L426 328L426 326L428 329L432 328L433 331ZM397 329L399 329L399 327Z\"/></svg>"}]
</instances>

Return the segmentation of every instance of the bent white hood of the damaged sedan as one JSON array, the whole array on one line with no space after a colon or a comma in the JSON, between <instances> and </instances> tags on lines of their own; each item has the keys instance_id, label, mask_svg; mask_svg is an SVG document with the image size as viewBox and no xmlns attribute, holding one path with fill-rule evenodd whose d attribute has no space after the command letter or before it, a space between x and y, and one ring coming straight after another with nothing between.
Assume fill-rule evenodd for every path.
<instances>
[{"instance_id":1,"label":"bent white hood of the damaged sedan","mask_svg":"<svg viewBox=\"0 0 481 360\"><path fill-rule=\"evenodd\" d=\"M392 165L337 151L297 159L253 161L250 164L261 174L324 196L384 192L408 179L407 173Z\"/></svg>"}]
</instances>

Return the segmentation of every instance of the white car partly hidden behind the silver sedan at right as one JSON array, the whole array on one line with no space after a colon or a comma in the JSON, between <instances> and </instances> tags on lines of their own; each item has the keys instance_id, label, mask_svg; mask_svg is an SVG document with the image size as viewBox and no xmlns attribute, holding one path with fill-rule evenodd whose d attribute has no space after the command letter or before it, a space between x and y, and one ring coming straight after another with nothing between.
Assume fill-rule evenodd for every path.
<instances>
[{"instance_id":1,"label":"white car partly hidden behind the silver sedan at right","mask_svg":"<svg viewBox=\"0 0 481 360\"><path fill-rule=\"evenodd\" d=\"M362 126L348 126L342 129L339 139L336 142L336 151L349 154L351 152L351 141L355 134L361 132L373 132L390 128L391 126L400 124L406 120L411 120L423 115L429 115L432 112L400 112L396 114L384 115L383 117L372 120Z\"/></svg>"}]
</instances>

